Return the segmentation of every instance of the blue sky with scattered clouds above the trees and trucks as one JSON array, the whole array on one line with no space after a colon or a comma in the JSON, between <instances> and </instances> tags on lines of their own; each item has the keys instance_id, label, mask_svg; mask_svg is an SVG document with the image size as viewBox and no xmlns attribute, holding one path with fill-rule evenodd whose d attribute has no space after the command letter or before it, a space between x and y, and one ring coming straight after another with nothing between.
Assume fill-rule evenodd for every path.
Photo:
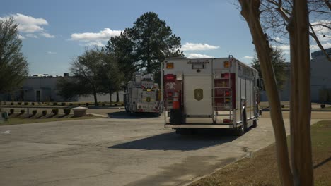
<instances>
[{"instance_id":1,"label":"blue sky with scattered clouds above the trees and trucks","mask_svg":"<svg viewBox=\"0 0 331 186\"><path fill-rule=\"evenodd\" d=\"M86 47L102 46L153 11L182 39L188 57L226 57L250 63L254 46L233 0L3 1L0 17L20 24L30 74L62 75ZM284 46L286 49L286 46Z\"/></svg>"}]
</instances>

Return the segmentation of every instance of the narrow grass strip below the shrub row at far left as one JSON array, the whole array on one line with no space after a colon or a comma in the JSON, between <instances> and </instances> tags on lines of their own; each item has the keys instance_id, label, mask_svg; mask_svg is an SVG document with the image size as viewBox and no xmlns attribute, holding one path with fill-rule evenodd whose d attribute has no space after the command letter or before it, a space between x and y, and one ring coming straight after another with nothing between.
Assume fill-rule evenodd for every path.
<instances>
[{"instance_id":1,"label":"narrow grass strip below the shrub row at far left","mask_svg":"<svg viewBox=\"0 0 331 186\"><path fill-rule=\"evenodd\" d=\"M85 120L85 119L93 119L93 118L101 118L93 115L86 115L83 117L74 118L73 115L57 115L52 116L48 114L47 116L41 116L37 114L36 116L28 116L25 115L16 115L14 117L9 117L8 121L4 121L4 123L0 123L1 125L16 125L16 124L25 124L25 123L45 123L50 121L61 121L61 120Z\"/></svg>"}]
</instances>

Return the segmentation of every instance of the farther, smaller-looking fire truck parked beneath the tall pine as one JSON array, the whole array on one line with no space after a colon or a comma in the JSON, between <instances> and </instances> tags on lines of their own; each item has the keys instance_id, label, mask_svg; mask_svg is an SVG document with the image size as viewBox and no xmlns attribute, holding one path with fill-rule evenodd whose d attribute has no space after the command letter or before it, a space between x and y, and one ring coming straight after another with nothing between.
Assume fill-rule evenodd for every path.
<instances>
[{"instance_id":1,"label":"farther, smaller-looking fire truck parked beneath the tall pine","mask_svg":"<svg viewBox=\"0 0 331 186\"><path fill-rule=\"evenodd\" d=\"M163 113L161 89L152 74L134 75L124 92L124 106L128 113Z\"/></svg>"}]
</instances>

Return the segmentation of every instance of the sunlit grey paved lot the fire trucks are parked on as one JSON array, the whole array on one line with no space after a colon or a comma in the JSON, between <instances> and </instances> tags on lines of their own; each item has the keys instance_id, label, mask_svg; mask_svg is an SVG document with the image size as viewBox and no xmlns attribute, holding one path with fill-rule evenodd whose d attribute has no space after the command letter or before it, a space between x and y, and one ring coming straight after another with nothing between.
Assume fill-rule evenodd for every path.
<instances>
[{"instance_id":1,"label":"sunlit grey paved lot the fire trucks are parked on","mask_svg":"<svg viewBox=\"0 0 331 186\"><path fill-rule=\"evenodd\" d=\"M270 119L258 123L242 137L180 136L163 118L1 126L0 185L186 185L272 144Z\"/></svg>"}]
</instances>

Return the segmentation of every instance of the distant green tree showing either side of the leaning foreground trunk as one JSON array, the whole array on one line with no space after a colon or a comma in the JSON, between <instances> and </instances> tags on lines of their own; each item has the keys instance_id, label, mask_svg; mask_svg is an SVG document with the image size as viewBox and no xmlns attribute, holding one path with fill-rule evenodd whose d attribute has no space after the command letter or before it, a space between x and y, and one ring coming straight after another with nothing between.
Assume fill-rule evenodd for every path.
<instances>
[{"instance_id":1,"label":"distant green tree showing either side of the leaning foreground trunk","mask_svg":"<svg viewBox=\"0 0 331 186\"><path fill-rule=\"evenodd\" d=\"M276 77L277 88L282 90L284 87L284 82L286 81L285 66L286 61L284 58L283 51L277 47L270 47L270 55L272 58L272 66L274 67L274 75ZM255 68L259 72L259 77L262 77L260 61L257 55L252 59L252 68Z\"/></svg>"}]
</instances>

